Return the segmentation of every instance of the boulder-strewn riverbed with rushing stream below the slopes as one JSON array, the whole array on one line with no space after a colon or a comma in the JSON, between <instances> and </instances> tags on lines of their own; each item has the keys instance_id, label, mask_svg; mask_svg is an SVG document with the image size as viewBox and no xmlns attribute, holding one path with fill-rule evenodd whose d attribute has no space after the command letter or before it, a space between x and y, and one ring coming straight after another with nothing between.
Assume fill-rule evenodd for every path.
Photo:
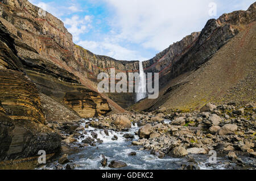
<instances>
[{"instance_id":1,"label":"boulder-strewn riverbed with rushing stream below the slopes","mask_svg":"<svg viewBox=\"0 0 256 181\"><path fill-rule=\"evenodd\" d=\"M255 169L255 116L255 103L209 103L51 123L62 153L38 169Z\"/></svg>"}]
</instances>

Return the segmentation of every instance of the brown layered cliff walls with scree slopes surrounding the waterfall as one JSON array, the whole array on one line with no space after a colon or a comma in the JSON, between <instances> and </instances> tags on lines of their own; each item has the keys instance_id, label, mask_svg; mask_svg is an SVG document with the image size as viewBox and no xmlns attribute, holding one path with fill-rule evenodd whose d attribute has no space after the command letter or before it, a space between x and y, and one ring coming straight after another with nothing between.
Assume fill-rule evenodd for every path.
<instances>
[{"instance_id":1,"label":"brown layered cliff walls with scree slopes surrounding the waterfall","mask_svg":"<svg viewBox=\"0 0 256 181\"><path fill-rule=\"evenodd\" d=\"M0 1L0 160L55 153L61 137L48 123L159 107L192 109L207 102L255 99L255 3L210 19L154 58L158 99L97 92L97 75L139 71L139 61L99 56L76 45L63 22L27 0ZM239 94L239 95L238 95Z\"/></svg>"}]
</instances>

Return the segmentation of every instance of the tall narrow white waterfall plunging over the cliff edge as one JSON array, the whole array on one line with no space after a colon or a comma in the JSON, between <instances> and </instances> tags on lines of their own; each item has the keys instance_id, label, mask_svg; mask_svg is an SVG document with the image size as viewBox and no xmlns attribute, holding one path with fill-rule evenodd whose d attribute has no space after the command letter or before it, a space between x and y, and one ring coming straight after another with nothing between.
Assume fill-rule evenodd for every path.
<instances>
[{"instance_id":1,"label":"tall narrow white waterfall plunging over the cliff edge","mask_svg":"<svg viewBox=\"0 0 256 181\"><path fill-rule=\"evenodd\" d=\"M139 62L139 91L136 95L136 101L138 102L141 99L144 99L147 94L147 83L146 83L146 74L143 70L142 62Z\"/></svg>"}]
</instances>

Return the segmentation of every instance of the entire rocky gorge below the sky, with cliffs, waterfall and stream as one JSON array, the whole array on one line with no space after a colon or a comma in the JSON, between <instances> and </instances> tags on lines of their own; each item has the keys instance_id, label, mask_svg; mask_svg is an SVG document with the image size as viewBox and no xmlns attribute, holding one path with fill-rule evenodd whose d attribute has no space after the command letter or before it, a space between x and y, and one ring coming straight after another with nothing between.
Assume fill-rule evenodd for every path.
<instances>
[{"instance_id":1,"label":"entire rocky gorge below the sky, with cliffs, waterfall and stream","mask_svg":"<svg viewBox=\"0 0 256 181\"><path fill-rule=\"evenodd\" d=\"M62 156L41 169L100 169L106 159L128 169L255 169L255 6L141 62L76 45L27 0L0 1L0 168L45 150ZM98 92L97 75L113 68L139 73L139 92ZM159 73L157 99L147 98L147 73Z\"/></svg>"}]
</instances>

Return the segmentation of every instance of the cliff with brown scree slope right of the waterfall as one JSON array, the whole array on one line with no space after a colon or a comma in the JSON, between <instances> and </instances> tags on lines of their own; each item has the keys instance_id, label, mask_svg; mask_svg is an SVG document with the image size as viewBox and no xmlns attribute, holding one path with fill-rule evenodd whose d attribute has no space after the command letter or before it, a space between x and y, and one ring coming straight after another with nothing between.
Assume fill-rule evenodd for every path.
<instances>
[{"instance_id":1,"label":"cliff with brown scree slope right of the waterfall","mask_svg":"<svg viewBox=\"0 0 256 181\"><path fill-rule=\"evenodd\" d=\"M208 102L255 100L255 4L208 20L200 35L192 33L144 62L160 72L160 96L132 108L195 110ZM178 48L184 41L185 48Z\"/></svg>"}]
</instances>

